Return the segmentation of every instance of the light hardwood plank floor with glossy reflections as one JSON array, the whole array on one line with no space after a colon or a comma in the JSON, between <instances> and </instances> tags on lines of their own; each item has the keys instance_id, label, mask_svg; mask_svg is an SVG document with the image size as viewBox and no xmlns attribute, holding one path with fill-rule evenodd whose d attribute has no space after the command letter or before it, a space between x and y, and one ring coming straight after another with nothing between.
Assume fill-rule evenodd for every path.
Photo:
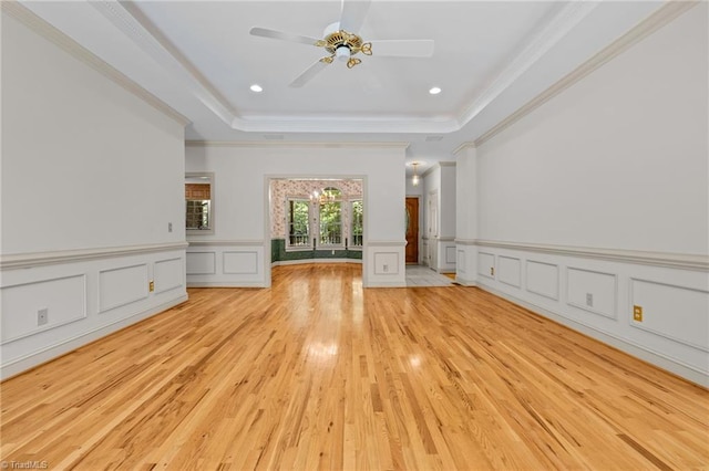
<instances>
[{"instance_id":1,"label":"light hardwood plank floor with glossy reflections","mask_svg":"<svg viewBox=\"0 0 709 471\"><path fill-rule=\"evenodd\" d=\"M357 265L189 301L0 385L49 469L707 469L709 394L474 287Z\"/></svg>"}]
</instances>

